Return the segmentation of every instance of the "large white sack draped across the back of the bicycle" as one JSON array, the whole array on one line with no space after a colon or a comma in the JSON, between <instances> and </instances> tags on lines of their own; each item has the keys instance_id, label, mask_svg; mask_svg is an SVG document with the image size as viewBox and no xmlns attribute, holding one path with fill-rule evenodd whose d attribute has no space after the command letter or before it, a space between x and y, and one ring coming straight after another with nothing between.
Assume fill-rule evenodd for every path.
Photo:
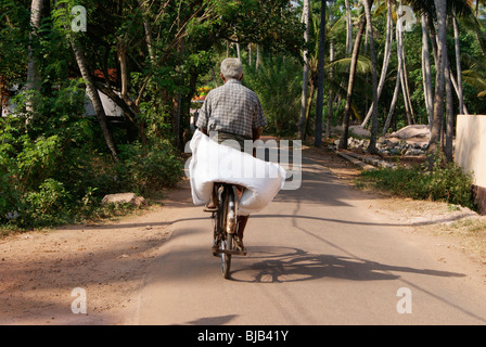
<instances>
[{"instance_id":1,"label":"large white sack draped across the back of the bicycle","mask_svg":"<svg viewBox=\"0 0 486 347\"><path fill-rule=\"evenodd\" d=\"M218 144L200 130L195 131L190 146L189 176L195 205L209 202L214 182L239 184L246 188L239 214L248 216L266 207L285 183L285 170L280 165Z\"/></svg>"}]
</instances>

